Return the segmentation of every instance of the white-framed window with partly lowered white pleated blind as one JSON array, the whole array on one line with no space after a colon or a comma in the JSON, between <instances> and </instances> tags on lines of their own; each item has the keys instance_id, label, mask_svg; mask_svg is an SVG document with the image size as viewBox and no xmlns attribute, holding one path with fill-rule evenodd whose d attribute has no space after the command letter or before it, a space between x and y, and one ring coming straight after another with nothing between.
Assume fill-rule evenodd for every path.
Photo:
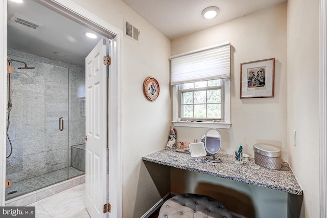
<instances>
[{"instance_id":1,"label":"white-framed window with partly lowered white pleated blind","mask_svg":"<svg viewBox=\"0 0 327 218\"><path fill-rule=\"evenodd\" d=\"M230 43L171 57L175 126L230 128Z\"/></svg>"}]
</instances>

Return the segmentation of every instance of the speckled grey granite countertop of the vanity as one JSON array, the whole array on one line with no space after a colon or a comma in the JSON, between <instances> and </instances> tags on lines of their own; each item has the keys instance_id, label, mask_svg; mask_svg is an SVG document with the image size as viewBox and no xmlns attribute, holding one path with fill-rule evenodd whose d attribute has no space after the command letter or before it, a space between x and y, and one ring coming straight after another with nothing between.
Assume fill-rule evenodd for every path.
<instances>
[{"instance_id":1,"label":"speckled grey granite countertop of the vanity","mask_svg":"<svg viewBox=\"0 0 327 218\"><path fill-rule=\"evenodd\" d=\"M253 166L254 159L239 164L235 162L235 158L232 155L216 154L217 157L222 162L210 163L204 161L205 157L201 157L203 161L196 162L195 158L192 158L189 154L176 152L175 149L162 149L143 156L142 160L278 191L285 191L291 194L303 194L290 166L286 162L283 162L282 168L277 170L264 167L253 169L250 165Z\"/></svg>"}]
</instances>

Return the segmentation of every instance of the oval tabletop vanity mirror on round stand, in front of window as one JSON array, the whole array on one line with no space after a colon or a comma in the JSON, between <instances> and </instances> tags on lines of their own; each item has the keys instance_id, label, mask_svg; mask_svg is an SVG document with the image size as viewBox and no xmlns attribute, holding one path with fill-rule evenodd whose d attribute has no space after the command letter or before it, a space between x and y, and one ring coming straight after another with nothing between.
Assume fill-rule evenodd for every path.
<instances>
[{"instance_id":1,"label":"oval tabletop vanity mirror on round stand, in front of window","mask_svg":"<svg viewBox=\"0 0 327 218\"><path fill-rule=\"evenodd\" d=\"M211 154L210 157L206 158L207 161L214 163L221 162L221 159L215 158L215 154L217 154L221 148L221 134L218 129L210 128L205 132L204 146L205 150Z\"/></svg>"}]
</instances>

